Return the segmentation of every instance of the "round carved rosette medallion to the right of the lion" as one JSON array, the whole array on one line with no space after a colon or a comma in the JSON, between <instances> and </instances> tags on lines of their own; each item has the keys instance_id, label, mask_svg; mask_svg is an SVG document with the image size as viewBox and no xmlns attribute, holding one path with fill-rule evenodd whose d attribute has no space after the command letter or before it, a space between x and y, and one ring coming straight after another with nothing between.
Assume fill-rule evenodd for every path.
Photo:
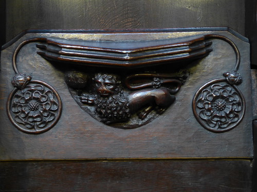
<instances>
[{"instance_id":1,"label":"round carved rosette medallion to the right of the lion","mask_svg":"<svg viewBox=\"0 0 257 192\"><path fill-rule=\"evenodd\" d=\"M240 90L226 79L214 79L196 92L193 112L205 129L222 133L240 123L245 113L245 100Z\"/></svg>"}]
</instances>

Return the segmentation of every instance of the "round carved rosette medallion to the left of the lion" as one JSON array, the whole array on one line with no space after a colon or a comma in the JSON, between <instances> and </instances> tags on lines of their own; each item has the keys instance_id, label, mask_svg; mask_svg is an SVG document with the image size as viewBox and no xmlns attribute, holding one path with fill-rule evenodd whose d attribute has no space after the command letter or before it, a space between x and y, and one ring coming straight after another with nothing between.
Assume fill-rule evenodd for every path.
<instances>
[{"instance_id":1,"label":"round carved rosette medallion to the left of the lion","mask_svg":"<svg viewBox=\"0 0 257 192\"><path fill-rule=\"evenodd\" d=\"M49 84L31 80L23 89L15 88L7 102L11 122L22 132L44 133L57 123L62 111L61 99Z\"/></svg>"}]
</instances>

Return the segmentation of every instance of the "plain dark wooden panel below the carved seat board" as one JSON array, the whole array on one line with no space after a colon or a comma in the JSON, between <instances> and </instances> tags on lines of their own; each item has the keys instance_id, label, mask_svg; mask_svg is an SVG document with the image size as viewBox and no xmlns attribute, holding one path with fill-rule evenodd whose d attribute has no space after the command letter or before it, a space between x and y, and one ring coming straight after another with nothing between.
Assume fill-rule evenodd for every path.
<instances>
[{"instance_id":1,"label":"plain dark wooden panel below the carved seat board","mask_svg":"<svg viewBox=\"0 0 257 192\"><path fill-rule=\"evenodd\" d=\"M1 191L251 191L248 160L2 162L0 171Z\"/></svg>"}]
</instances>

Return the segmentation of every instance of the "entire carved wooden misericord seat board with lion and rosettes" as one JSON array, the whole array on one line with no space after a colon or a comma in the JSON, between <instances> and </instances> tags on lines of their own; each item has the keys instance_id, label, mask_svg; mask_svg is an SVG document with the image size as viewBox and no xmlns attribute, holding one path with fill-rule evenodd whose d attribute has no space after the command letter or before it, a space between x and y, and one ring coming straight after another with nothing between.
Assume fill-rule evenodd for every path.
<instances>
[{"instance_id":1,"label":"entire carved wooden misericord seat board with lion and rosettes","mask_svg":"<svg viewBox=\"0 0 257 192\"><path fill-rule=\"evenodd\" d=\"M1 140L29 151L2 159L252 156L249 43L228 28L32 30L1 59Z\"/></svg>"}]
</instances>

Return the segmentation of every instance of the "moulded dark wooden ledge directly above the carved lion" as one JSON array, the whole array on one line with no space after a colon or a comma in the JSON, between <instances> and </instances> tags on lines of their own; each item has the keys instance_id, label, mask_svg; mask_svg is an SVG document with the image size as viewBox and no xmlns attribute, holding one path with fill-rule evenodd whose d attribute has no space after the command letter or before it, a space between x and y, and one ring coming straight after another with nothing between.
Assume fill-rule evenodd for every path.
<instances>
[{"instance_id":1,"label":"moulded dark wooden ledge directly above the carved lion","mask_svg":"<svg viewBox=\"0 0 257 192\"><path fill-rule=\"evenodd\" d=\"M211 42L205 36L144 41L81 41L40 39L42 57L76 62L93 67L142 68L209 54Z\"/></svg>"}]
</instances>

